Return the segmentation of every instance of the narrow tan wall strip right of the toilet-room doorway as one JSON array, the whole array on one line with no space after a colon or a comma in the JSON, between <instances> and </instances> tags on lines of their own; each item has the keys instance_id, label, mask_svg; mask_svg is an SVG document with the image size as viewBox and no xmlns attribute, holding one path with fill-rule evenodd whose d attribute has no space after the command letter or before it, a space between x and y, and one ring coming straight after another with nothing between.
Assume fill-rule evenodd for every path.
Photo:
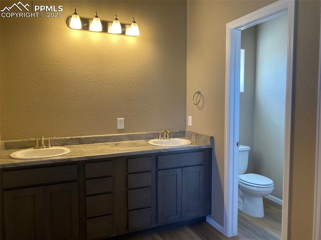
<instances>
[{"instance_id":1,"label":"narrow tan wall strip right of the toilet-room doorway","mask_svg":"<svg viewBox=\"0 0 321 240\"><path fill-rule=\"evenodd\" d=\"M320 1L298 1L289 239L312 239ZM304 220L303 220L304 219Z\"/></svg>"}]
</instances>

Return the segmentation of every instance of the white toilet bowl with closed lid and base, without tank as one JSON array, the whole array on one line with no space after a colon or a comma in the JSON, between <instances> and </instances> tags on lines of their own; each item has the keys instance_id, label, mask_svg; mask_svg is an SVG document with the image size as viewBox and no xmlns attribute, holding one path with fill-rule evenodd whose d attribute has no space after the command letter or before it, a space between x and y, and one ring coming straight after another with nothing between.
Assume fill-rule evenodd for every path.
<instances>
[{"instance_id":1,"label":"white toilet bowl with closed lid and base, without tank","mask_svg":"<svg viewBox=\"0 0 321 240\"><path fill-rule=\"evenodd\" d=\"M241 197L244 213L263 217L263 197L272 193L274 189L273 181L265 176L247 173L239 175L239 196Z\"/></svg>"}]
</instances>

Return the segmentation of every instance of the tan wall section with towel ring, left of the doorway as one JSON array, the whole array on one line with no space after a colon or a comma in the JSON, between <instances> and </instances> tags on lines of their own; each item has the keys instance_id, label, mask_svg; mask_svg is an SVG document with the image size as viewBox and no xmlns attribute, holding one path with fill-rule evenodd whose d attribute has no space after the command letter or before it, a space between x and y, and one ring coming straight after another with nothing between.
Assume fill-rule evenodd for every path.
<instances>
[{"instance_id":1,"label":"tan wall section with towel ring, left of the doorway","mask_svg":"<svg viewBox=\"0 0 321 240\"><path fill-rule=\"evenodd\" d=\"M273 2L222 0L187 4L187 116L193 118L193 126L187 130L214 136L211 217L222 226L226 24ZM199 89L204 104L197 107L192 98Z\"/></svg>"}]
</instances>

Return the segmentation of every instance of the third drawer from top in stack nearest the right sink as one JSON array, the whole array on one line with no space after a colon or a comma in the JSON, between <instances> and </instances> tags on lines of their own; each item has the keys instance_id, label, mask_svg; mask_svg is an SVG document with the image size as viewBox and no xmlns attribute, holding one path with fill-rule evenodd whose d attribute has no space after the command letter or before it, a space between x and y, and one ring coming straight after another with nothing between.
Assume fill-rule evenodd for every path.
<instances>
[{"instance_id":1,"label":"third drawer from top in stack nearest the right sink","mask_svg":"<svg viewBox=\"0 0 321 240\"><path fill-rule=\"evenodd\" d=\"M128 190L128 210L151 206L151 187Z\"/></svg>"}]
</instances>

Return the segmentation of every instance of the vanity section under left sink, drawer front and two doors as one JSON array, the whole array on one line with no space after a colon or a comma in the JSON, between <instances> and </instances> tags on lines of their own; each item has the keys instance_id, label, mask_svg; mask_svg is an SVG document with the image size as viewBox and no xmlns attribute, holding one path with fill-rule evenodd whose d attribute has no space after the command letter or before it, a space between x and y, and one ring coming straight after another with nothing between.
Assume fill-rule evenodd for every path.
<instances>
[{"instance_id":1,"label":"vanity section under left sink, drawer front and two doors","mask_svg":"<svg viewBox=\"0 0 321 240\"><path fill-rule=\"evenodd\" d=\"M6 239L79 239L77 179L77 165L4 171Z\"/></svg>"}]
</instances>

